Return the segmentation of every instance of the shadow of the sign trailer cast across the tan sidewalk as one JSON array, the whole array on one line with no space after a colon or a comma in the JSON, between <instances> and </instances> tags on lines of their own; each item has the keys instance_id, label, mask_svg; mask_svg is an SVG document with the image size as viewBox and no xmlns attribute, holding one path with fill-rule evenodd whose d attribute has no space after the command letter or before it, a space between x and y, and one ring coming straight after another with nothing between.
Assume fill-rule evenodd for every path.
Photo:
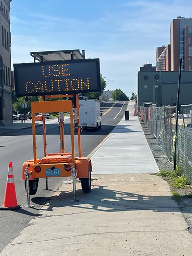
<instances>
[{"instance_id":1,"label":"shadow of the sign trailer cast across the tan sidewalk","mask_svg":"<svg viewBox=\"0 0 192 256\"><path fill-rule=\"evenodd\" d=\"M130 210L153 210L160 212L180 211L177 203L172 199L172 196L152 196L147 195L147 192L135 194L120 190L106 189L105 186L93 186L89 194L84 194L81 189L76 191L76 198L80 200L79 202L71 202L74 199L71 187L70 191L59 192L60 194L58 196L51 197L46 211L53 211L55 208L65 206L106 212ZM33 200L34 202L36 201L35 198L33 198ZM65 211L63 214L65 215Z\"/></svg>"}]
</instances>

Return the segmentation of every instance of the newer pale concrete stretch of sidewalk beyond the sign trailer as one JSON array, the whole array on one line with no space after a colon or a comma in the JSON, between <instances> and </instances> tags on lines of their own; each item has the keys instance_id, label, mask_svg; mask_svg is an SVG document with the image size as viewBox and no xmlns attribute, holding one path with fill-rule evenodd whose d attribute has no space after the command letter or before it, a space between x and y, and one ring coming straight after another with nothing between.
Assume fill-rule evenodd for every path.
<instances>
[{"instance_id":1,"label":"newer pale concrete stretch of sidewalk beyond the sign trailer","mask_svg":"<svg viewBox=\"0 0 192 256\"><path fill-rule=\"evenodd\" d=\"M94 174L157 173L156 161L145 139L134 104L128 105L130 120L124 118L92 156Z\"/></svg>"}]
</instances>

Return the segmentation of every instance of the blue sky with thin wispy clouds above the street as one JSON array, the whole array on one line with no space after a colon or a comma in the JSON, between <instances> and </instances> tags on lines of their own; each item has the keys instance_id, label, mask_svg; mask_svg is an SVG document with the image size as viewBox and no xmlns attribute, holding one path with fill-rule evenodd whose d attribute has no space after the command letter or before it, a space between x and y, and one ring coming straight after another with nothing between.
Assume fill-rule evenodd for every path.
<instances>
[{"instance_id":1,"label":"blue sky with thin wispy clouds above the street","mask_svg":"<svg viewBox=\"0 0 192 256\"><path fill-rule=\"evenodd\" d=\"M155 66L156 48L170 42L170 23L192 17L191 0L12 0L12 64L30 52L79 49L99 58L106 90L137 93L137 72ZM110 81L111 80L111 81Z\"/></svg>"}]
</instances>

